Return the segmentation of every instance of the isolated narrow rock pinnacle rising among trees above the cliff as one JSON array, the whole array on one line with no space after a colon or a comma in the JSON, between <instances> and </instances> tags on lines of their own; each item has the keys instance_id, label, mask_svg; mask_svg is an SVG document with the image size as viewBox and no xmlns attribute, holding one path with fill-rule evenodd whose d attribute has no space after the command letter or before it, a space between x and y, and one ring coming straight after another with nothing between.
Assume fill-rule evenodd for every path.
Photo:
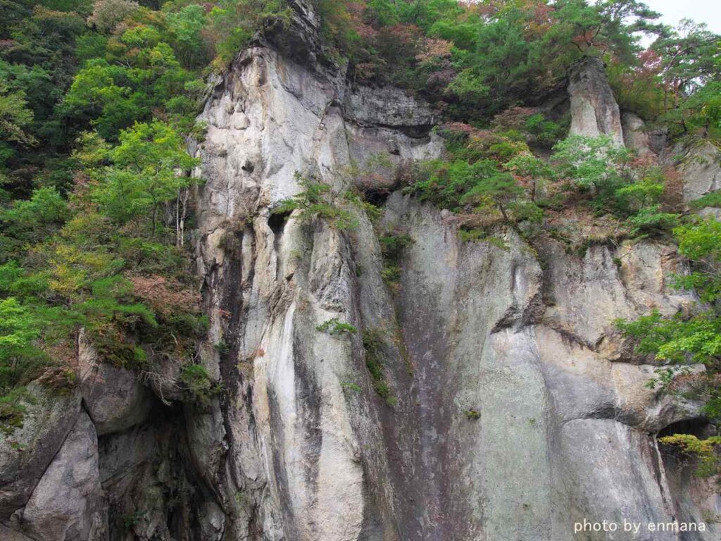
<instances>
[{"instance_id":1,"label":"isolated narrow rock pinnacle rising among trees above the cliff","mask_svg":"<svg viewBox=\"0 0 721 541\"><path fill-rule=\"evenodd\" d=\"M624 144L619 106L600 59L586 58L573 66L569 74L568 94L571 100L571 135L606 135L615 144Z\"/></svg>"}]
</instances>

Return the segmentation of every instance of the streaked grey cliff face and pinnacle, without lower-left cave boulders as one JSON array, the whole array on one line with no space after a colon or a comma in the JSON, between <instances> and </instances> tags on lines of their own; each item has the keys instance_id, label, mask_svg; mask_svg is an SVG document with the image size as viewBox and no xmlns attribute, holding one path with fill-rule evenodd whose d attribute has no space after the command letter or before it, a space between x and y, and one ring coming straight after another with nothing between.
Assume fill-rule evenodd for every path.
<instances>
[{"instance_id":1,"label":"streaked grey cliff face and pinnacle, without lower-left cave boulders","mask_svg":"<svg viewBox=\"0 0 721 541\"><path fill-rule=\"evenodd\" d=\"M576 133L622 144L599 70L591 63L572 82ZM576 256L510 231L497 232L505 250L464 243L449 216L399 193L377 229L362 211L350 232L270 215L300 190L296 171L340 193L358 182L354 162L385 153L376 187L392 188L404 159L437 155L433 135L411 131L433 114L408 100L346 89L259 48L208 102L198 266L211 343L229 351L205 349L226 395L193 428L191 447L213 449L195 451L216 486L205 535L570 541L583 516L700 516L716 497L674 496L653 436L698 417L698 405L647 389L655 366L632 357L612 324L693 301L665 283L681 265L673 247ZM389 288L377 236L391 231L413 242ZM235 252L220 242L229 233ZM358 333L317 329L334 318ZM387 400L373 392L369 359L383 366Z\"/></svg>"}]
</instances>

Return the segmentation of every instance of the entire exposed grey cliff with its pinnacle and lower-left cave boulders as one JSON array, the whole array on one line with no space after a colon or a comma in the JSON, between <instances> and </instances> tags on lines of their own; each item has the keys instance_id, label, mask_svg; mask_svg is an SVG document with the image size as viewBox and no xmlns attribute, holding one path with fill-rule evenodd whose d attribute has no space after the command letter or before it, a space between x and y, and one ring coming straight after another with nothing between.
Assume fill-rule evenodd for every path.
<instances>
[{"instance_id":1,"label":"entire exposed grey cliff with its pinnacle and lower-left cave boulders","mask_svg":"<svg viewBox=\"0 0 721 541\"><path fill-rule=\"evenodd\" d=\"M0 538L571 541L583 519L720 513L657 442L669 427L702 431L698 405L645 387L655 366L612 324L694 300L668 288L684 265L674 247L579 255L511 229L462 242L446 212L394 191L405 164L443 150L433 110L324 65L317 20L296 4L283 47L256 43L215 82L207 137L192 145L206 180L200 361L221 391L183 403L177 366L138 380L81 343L79 388L61 400L34 390L25 426L0 439ZM572 130L623 144L598 69L571 78ZM301 191L296 172L339 194L370 188L378 223L358 209L339 232L275 213ZM412 240L392 286L379 231ZM319 330L332 320L357 332ZM709 522L583 539L720 533Z\"/></svg>"}]
</instances>

